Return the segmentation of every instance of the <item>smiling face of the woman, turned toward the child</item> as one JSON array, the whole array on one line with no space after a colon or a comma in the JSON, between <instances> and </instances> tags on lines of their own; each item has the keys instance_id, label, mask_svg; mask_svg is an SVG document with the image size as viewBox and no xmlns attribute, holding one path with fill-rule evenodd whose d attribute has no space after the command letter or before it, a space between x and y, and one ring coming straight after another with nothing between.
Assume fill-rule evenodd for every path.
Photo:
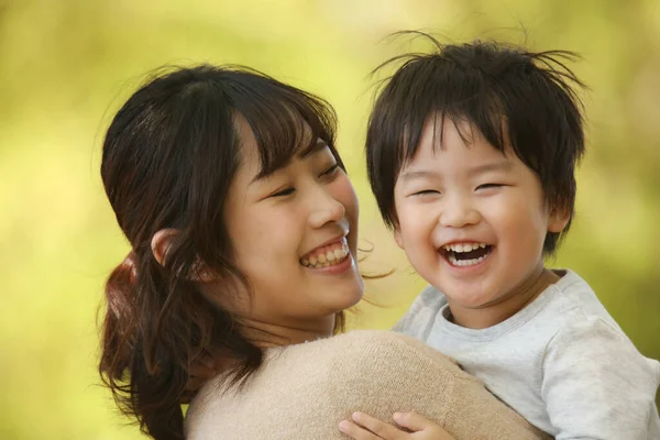
<instances>
[{"instance_id":1,"label":"smiling face of the woman, turned toward the child","mask_svg":"<svg viewBox=\"0 0 660 440\"><path fill-rule=\"evenodd\" d=\"M224 216L234 264L253 288L237 312L286 327L331 321L364 290L353 187L320 140L310 154L257 178L256 141L244 120L237 125L243 154Z\"/></svg>"}]
</instances>

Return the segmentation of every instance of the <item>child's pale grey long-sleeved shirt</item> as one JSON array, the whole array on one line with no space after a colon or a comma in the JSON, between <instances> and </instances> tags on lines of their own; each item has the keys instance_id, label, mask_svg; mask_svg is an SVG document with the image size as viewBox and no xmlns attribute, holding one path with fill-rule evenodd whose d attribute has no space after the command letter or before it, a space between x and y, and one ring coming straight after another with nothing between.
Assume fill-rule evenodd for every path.
<instances>
[{"instance_id":1,"label":"child's pale grey long-sleeved shirt","mask_svg":"<svg viewBox=\"0 0 660 440\"><path fill-rule=\"evenodd\" d=\"M457 360L557 440L660 439L660 364L637 351L574 272L487 329L448 316L447 299L429 286L394 330Z\"/></svg>"}]
</instances>

